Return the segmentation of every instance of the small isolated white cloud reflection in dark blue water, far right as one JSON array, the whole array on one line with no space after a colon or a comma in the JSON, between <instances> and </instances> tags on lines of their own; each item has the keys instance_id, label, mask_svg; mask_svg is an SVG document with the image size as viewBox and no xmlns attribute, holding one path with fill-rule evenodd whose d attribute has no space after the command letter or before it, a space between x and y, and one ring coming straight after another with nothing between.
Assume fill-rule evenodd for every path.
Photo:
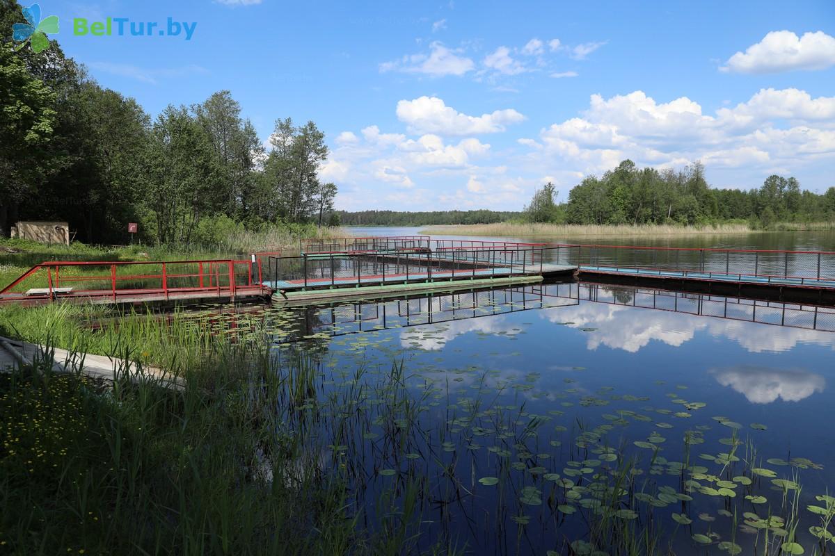
<instances>
[{"instance_id":1,"label":"small isolated white cloud reflection in dark blue water, far right","mask_svg":"<svg viewBox=\"0 0 835 556\"><path fill-rule=\"evenodd\" d=\"M802 369L777 369L756 365L736 365L712 369L711 374L722 386L730 386L751 403L772 403L777 398L799 402L813 393L823 392L826 379Z\"/></svg>"}]
</instances>

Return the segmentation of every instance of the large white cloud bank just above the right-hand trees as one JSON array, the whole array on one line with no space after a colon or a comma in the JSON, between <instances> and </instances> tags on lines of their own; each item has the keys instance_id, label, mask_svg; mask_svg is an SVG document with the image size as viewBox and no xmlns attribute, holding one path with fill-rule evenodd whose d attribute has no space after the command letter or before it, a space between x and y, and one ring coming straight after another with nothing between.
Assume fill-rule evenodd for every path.
<instances>
[{"instance_id":1,"label":"large white cloud bank just above the right-hand trees","mask_svg":"<svg viewBox=\"0 0 835 556\"><path fill-rule=\"evenodd\" d=\"M625 158L658 168L701 159L709 168L765 173L835 158L835 97L762 89L710 114L687 97L664 103L643 91L593 94L582 117L544 128L539 139L551 164L563 158L565 169L584 173L614 168Z\"/></svg>"}]
</instances>

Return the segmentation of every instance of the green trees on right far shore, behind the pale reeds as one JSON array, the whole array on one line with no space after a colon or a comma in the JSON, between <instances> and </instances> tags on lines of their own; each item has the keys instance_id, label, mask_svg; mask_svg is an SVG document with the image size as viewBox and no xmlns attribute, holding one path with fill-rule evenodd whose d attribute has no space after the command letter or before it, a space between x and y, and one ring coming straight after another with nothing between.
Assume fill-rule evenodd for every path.
<instances>
[{"instance_id":1,"label":"green trees on right far shore, behind the pale reeds","mask_svg":"<svg viewBox=\"0 0 835 556\"><path fill-rule=\"evenodd\" d=\"M772 175L762 187L711 188L705 168L637 168L625 160L602 177L589 176L556 202L552 183L539 188L524 209L529 222L571 224L685 224L746 221L753 227L775 222L835 219L835 187L818 194L802 190L796 178Z\"/></svg>"}]
</instances>

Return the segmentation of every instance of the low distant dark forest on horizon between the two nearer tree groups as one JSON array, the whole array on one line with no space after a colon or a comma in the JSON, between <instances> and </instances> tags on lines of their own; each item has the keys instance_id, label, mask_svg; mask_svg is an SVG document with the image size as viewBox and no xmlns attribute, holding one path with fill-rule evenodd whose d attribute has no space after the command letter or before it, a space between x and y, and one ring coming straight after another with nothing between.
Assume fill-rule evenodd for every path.
<instances>
[{"instance_id":1,"label":"low distant dark forest on horizon between the two nearer tree groups","mask_svg":"<svg viewBox=\"0 0 835 556\"><path fill-rule=\"evenodd\" d=\"M395 210L337 211L343 226L428 226L430 224L488 224L518 219L522 213L492 210L443 210L407 212Z\"/></svg>"}]
</instances>

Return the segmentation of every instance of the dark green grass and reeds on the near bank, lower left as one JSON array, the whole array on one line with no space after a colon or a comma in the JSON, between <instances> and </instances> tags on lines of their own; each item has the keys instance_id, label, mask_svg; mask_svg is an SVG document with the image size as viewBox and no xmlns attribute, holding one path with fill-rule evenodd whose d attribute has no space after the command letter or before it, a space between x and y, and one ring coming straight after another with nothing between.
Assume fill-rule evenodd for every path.
<instances>
[{"instance_id":1,"label":"dark green grass and reeds on the near bank, lower left","mask_svg":"<svg viewBox=\"0 0 835 556\"><path fill-rule=\"evenodd\" d=\"M216 353L186 373L183 392L149 378L120 378L105 389L43 372L45 362L0 376L3 553L311 554L362 546L342 480L297 465L300 438L281 433L271 411L269 400L308 363L288 363L279 374L269 361L266 353ZM254 398L253 384L261 391ZM290 473L292 483L267 480Z\"/></svg>"}]
</instances>

